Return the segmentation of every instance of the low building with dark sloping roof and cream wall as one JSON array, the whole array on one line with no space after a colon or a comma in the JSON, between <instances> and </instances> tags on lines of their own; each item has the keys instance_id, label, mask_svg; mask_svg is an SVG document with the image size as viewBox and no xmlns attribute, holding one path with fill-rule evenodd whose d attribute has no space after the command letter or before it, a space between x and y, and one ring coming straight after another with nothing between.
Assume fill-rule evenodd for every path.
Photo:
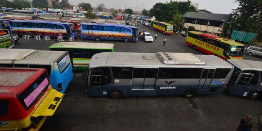
<instances>
[{"instance_id":1,"label":"low building with dark sloping roof and cream wall","mask_svg":"<svg viewBox=\"0 0 262 131\"><path fill-rule=\"evenodd\" d=\"M213 14L207 10L198 10L198 12L187 12L184 17L183 27L195 27L197 31L213 33L220 35L226 22L229 20L228 14Z\"/></svg>"}]
</instances>

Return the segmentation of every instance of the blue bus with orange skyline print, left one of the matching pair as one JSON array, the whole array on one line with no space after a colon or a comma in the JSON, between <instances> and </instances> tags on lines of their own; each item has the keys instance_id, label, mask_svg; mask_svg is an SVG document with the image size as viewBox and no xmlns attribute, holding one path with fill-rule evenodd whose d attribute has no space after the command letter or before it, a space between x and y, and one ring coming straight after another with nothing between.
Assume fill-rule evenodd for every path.
<instances>
[{"instance_id":1,"label":"blue bus with orange skyline print, left one of the matching pair","mask_svg":"<svg viewBox=\"0 0 262 131\"><path fill-rule=\"evenodd\" d=\"M76 37L77 32L73 23L47 20L10 20L10 29L12 34L28 35L48 35L57 37L62 33L63 37Z\"/></svg>"}]
</instances>

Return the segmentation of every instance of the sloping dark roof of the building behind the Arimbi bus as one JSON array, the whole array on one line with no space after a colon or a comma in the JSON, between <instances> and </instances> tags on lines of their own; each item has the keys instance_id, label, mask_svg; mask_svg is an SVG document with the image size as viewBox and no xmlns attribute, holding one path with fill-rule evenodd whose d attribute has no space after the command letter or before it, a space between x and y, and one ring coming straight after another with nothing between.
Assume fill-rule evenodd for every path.
<instances>
[{"instance_id":1,"label":"sloping dark roof of the building behind the Arimbi bus","mask_svg":"<svg viewBox=\"0 0 262 131\"><path fill-rule=\"evenodd\" d=\"M228 22L229 14L212 14L212 13L199 13L199 12L187 12L183 17L207 19Z\"/></svg>"}]
</instances>

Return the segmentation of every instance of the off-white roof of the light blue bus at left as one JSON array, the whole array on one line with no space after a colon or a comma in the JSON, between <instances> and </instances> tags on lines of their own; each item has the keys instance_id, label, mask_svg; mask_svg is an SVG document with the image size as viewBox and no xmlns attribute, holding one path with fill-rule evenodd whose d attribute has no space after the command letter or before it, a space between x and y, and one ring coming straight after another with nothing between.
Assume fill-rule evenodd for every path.
<instances>
[{"instance_id":1,"label":"off-white roof of the light blue bus at left","mask_svg":"<svg viewBox=\"0 0 262 131\"><path fill-rule=\"evenodd\" d=\"M0 64L50 65L50 63L62 59L67 53L67 51L34 49L0 49Z\"/></svg>"}]
</instances>

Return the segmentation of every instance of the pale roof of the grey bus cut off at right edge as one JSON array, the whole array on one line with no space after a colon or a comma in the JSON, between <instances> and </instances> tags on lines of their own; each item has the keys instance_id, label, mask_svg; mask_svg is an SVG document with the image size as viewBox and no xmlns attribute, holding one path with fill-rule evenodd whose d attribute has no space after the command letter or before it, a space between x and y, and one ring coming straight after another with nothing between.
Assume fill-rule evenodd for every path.
<instances>
[{"instance_id":1,"label":"pale roof of the grey bus cut off at right edge","mask_svg":"<svg viewBox=\"0 0 262 131\"><path fill-rule=\"evenodd\" d=\"M237 66L241 70L258 70L262 71L262 62L260 61L251 61L243 59L228 59L229 63L234 66Z\"/></svg>"}]
</instances>

